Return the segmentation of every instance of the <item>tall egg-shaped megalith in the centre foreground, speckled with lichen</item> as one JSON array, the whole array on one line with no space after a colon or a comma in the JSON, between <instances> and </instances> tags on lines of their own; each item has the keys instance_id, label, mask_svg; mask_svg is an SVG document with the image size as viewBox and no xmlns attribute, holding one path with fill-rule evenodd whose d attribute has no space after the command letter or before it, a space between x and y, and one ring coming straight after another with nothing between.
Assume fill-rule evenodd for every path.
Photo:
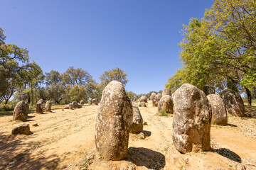
<instances>
[{"instance_id":1,"label":"tall egg-shaped megalith in the centre foreground, speckled with lichen","mask_svg":"<svg viewBox=\"0 0 256 170\"><path fill-rule=\"evenodd\" d=\"M95 125L97 152L107 160L127 156L132 126L132 101L119 81L111 81L102 92Z\"/></svg>"}]
</instances>

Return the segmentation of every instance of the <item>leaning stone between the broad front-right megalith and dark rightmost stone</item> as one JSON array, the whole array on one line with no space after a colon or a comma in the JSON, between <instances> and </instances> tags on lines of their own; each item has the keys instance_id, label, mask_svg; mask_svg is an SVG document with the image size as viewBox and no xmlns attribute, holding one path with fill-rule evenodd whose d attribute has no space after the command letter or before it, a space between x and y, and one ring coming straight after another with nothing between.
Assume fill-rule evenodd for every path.
<instances>
[{"instance_id":1,"label":"leaning stone between the broad front-right megalith and dark rightmost stone","mask_svg":"<svg viewBox=\"0 0 256 170\"><path fill-rule=\"evenodd\" d=\"M207 96L212 110L212 123L216 125L228 125L228 116L225 106L219 94L209 94Z\"/></svg>"}]
</instances>

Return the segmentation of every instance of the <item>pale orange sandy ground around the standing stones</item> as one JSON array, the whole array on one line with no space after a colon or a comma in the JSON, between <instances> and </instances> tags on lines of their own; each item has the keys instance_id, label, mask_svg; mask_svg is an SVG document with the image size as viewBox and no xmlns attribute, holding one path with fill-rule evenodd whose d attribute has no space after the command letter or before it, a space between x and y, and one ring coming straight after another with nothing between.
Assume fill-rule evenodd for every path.
<instances>
[{"instance_id":1,"label":"pale orange sandy ground around the standing stones","mask_svg":"<svg viewBox=\"0 0 256 170\"><path fill-rule=\"evenodd\" d=\"M130 134L129 155L105 162L95 152L95 118L98 106L29 114L32 135L11 135L20 121L0 117L0 169L256 169L256 109L245 118L229 116L227 126L212 125L209 152L180 154L172 142L172 115L160 116L147 103L139 108L146 139ZM38 123L38 127L33 124ZM86 159L91 154L95 159Z\"/></svg>"}]
</instances>

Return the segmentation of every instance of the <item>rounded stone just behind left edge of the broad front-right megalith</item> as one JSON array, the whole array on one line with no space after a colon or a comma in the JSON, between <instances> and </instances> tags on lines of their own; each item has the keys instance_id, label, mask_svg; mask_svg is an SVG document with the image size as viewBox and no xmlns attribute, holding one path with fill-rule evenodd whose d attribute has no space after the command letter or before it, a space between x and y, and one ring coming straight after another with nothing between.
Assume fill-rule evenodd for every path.
<instances>
[{"instance_id":1,"label":"rounded stone just behind left edge of the broad front-right megalith","mask_svg":"<svg viewBox=\"0 0 256 170\"><path fill-rule=\"evenodd\" d=\"M166 113L174 113L174 103L170 95L164 95L158 103L158 111L165 111Z\"/></svg>"}]
</instances>

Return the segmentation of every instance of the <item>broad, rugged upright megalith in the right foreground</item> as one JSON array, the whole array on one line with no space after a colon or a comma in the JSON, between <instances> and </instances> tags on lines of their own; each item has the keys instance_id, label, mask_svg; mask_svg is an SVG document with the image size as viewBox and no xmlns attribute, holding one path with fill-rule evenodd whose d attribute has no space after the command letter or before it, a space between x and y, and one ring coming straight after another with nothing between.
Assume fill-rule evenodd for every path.
<instances>
[{"instance_id":1,"label":"broad, rugged upright megalith in the right foreground","mask_svg":"<svg viewBox=\"0 0 256 170\"><path fill-rule=\"evenodd\" d=\"M174 95L173 142L178 152L210 149L211 110L206 94L183 84Z\"/></svg>"}]
</instances>

